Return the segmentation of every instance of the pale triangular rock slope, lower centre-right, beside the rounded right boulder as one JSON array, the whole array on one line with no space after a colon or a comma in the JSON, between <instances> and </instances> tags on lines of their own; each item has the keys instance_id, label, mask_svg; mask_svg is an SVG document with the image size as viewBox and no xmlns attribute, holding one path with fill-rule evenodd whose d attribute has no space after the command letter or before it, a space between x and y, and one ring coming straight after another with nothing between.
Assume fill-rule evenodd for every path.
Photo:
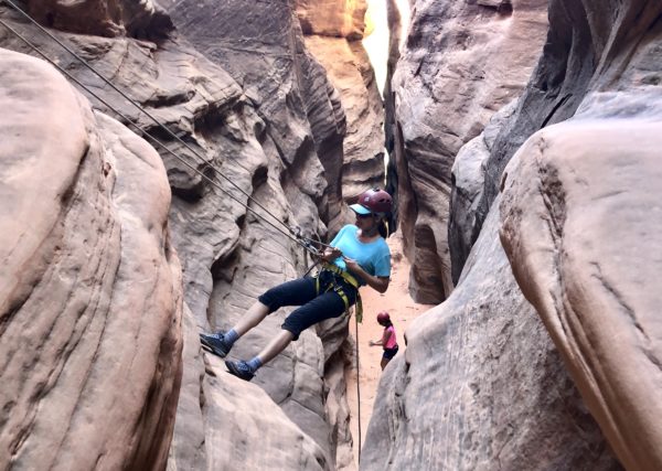
<instances>
[{"instance_id":1,"label":"pale triangular rock slope, lower centre-right, beside the rounded right boulder","mask_svg":"<svg viewBox=\"0 0 662 471\"><path fill-rule=\"evenodd\" d=\"M492 211L449 299L386 367L363 470L619 470L526 302Z\"/></svg>"}]
</instances>

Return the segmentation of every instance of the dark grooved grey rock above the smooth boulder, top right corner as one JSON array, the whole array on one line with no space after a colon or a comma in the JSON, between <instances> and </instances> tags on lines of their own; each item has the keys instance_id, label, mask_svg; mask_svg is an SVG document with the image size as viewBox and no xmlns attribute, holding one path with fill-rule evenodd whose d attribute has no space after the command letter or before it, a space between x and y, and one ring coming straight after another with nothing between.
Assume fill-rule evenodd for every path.
<instances>
[{"instance_id":1,"label":"dark grooved grey rock above the smooth boulder, top right corner","mask_svg":"<svg viewBox=\"0 0 662 471\"><path fill-rule=\"evenodd\" d=\"M604 117L637 117L642 111L641 104L628 103L628 95L654 89L662 81L661 14L662 3L648 0L549 2L543 55L485 162L480 220L499 193L509 160L537 130L572 118L594 95L609 96L609 106L599 113ZM619 99L619 94L624 99Z\"/></svg>"}]
</instances>

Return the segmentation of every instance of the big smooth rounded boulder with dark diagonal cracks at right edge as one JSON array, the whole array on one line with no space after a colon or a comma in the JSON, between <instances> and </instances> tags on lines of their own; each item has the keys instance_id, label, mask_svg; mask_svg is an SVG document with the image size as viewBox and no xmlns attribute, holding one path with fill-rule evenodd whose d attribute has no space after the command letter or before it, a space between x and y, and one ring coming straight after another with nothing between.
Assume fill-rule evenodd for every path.
<instances>
[{"instance_id":1,"label":"big smooth rounded boulder with dark diagonal cracks at right edge","mask_svg":"<svg viewBox=\"0 0 662 471\"><path fill-rule=\"evenodd\" d=\"M505 170L501 237L618 457L628 469L654 470L662 467L659 92L639 111L643 103L651 115L641 119L580 114L530 138Z\"/></svg>"}]
</instances>

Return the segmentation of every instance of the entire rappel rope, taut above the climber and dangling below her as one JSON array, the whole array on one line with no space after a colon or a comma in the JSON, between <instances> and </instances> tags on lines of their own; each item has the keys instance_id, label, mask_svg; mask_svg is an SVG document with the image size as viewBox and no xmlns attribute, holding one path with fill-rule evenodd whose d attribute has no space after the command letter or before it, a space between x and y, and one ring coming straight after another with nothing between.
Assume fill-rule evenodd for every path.
<instances>
[{"instance_id":1,"label":"entire rappel rope, taut above the climber and dangling below her","mask_svg":"<svg viewBox=\"0 0 662 471\"><path fill-rule=\"evenodd\" d=\"M127 94L125 94L121 89L119 89L117 86L115 86L103 74L100 74L98 71L96 71L96 68L94 68L92 65L89 65L87 63L87 61L85 61L84 58L82 58L81 56L78 56L78 54L76 54L73 50L71 50L67 45L65 45L62 41L60 41L55 35L53 35L45 28L43 28L41 24L39 24L34 19L32 19L32 17L30 17L28 13L25 13L23 10L21 10L15 3L13 3L11 0L2 0L2 1L7 2L14 10L17 10L19 13L21 13L31 23L33 23L40 31L42 31L44 34L46 34L47 36L50 36L54 42L56 42L60 46L62 46L70 54L72 54L78 62L81 62L83 65L85 65L89 71L92 71L96 76L98 76L107 85L109 85L114 90L116 90L117 93L119 93L126 100L128 100L131 105L134 105L139 111L141 111L146 116L148 116L160 129L164 130L169 136L171 136L172 138L174 138L182 146L184 146L195 157L197 157L199 159L201 159L201 161L207 168L211 168L217 175L220 175L225 181L227 181L228 183L231 183L235 189L237 189L250 202L255 203L255 205L257 205L266 214L268 214L275 221L279 222L285 228L287 228L287 232L284 231L282 228L276 226L273 222L270 222L269 220L267 220L263 214L256 212L247 203L244 203L238 197L236 197L234 194L232 194L231 192L228 192L227 190L225 190L223 186L221 186L221 184L218 182L216 182L215 180L212 180L205 173L203 173L202 171L197 170L195 167L193 167L191 163L189 163L184 158L182 158L181 156L177 154L168 146L166 146L159 139L157 139L156 137L153 137L152 135L150 135L149 131L146 131L145 129L142 129L137 122L135 122L132 119L130 119L129 117L127 117L126 115L124 115L121 111L119 111L117 108L115 108L108 101L106 101L104 98L102 98L100 96L98 96L95 92L93 92L92 89L89 89L81 81L78 81L76 77L74 77L72 74L70 74L64 67L62 67L60 64L55 63L53 60L51 60L49 56L46 56L38 46L35 46L34 44L32 44L21 33L19 33L17 30L14 30L9 24L7 24L2 19L0 19L0 24L2 24L4 28L7 28L7 30L9 30L17 38L19 38L23 43L25 43L30 49L32 49L34 52L36 52L46 62L49 62L51 65L53 65L55 68L57 68L70 81L74 82L83 90L85 90L87 94L89 94L90 96L93 96L94 98L96 98L99 103L102 103L103 105L105 105L108 109L110 109L111 111L114 111L117 116L119 116L121 119L124 119L128 125L132 126L141 136L146 137L151 142L156 143L159 148L163 149L166 152L168 152L169 154L171 154L172 157L174 157L175 159L178 159L185 167L188 167L191 171L193 171L194 173L199 174L203 180L205 180L209 183L211 183L212 185L214 185L221 192L223 192L224 194L226 194L228 197L231 197L236 203L238 203L242 206L244 206L248 212L253 213L255 216L257 216L258 218L260 218L263 222L267 223L274 229L276 229L280 234L285 235L286 237L290 238L291 240L296 242L298 245L300 245L301 247L303 247L303 249L307 250L310 255L312 255L313 259L316 260L313 263L313 265L306 271L306 275L308 275L317 265L319 265L319 263L320 263L320 250L318 248L316 248L313 246L313 244L317 244L320 247L331 247L330 245L324 244L324 243L319 242L319 240L314 240L314 239L309 238L309 237L305 237L305 236L302 236L300 234L300 231L295 231L293 228L289 227L287 224L285 224L282 221L280 221L280 218L278 218L277 216L275 216L265 206L263 206L252 195L249 195L244 190L242 190L242 188L239 185L237 185L235 182L233 182L229 178L225 176L218 169L216 169L211 163L205 162L204 157L202 157L197 151L195 151L195 149L191 148L179 136L177 136L168 127L166 127L163 124L161 124L150 113L148 113L147 110L145 110L145 108L142 108L141 105L139 105L137 101L135 101L132 98L130 98ZM359 318L357 317L355 317L355 325L356 325L356 395L357 395L356 404L357 404L357 416L359 416L357 417L357 425L359 425L359 463L361 463L361 386L360 386L360 368L359 368Z\"/></svg>"}]
</instances>

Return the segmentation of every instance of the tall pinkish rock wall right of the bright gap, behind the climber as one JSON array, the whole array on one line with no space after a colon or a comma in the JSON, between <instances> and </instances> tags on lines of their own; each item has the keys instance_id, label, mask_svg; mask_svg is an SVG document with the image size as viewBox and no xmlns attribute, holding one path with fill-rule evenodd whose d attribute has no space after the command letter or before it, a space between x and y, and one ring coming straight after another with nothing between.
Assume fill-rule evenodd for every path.
<instances>
[{"instance_id":1,"label":"tall pinkish rock wall right of the bright gap, behind the climber","mask_svg":"<svg viewBox=\"0 0 662 471\"><path fill-rule=\"evenodd\" d=\"M545 39L546 0L488 3L416 1L393 77L398 225L412 295L424 303L444 301L453 287L453 159L520 94Z\"/></svg>"}]
</instances>

